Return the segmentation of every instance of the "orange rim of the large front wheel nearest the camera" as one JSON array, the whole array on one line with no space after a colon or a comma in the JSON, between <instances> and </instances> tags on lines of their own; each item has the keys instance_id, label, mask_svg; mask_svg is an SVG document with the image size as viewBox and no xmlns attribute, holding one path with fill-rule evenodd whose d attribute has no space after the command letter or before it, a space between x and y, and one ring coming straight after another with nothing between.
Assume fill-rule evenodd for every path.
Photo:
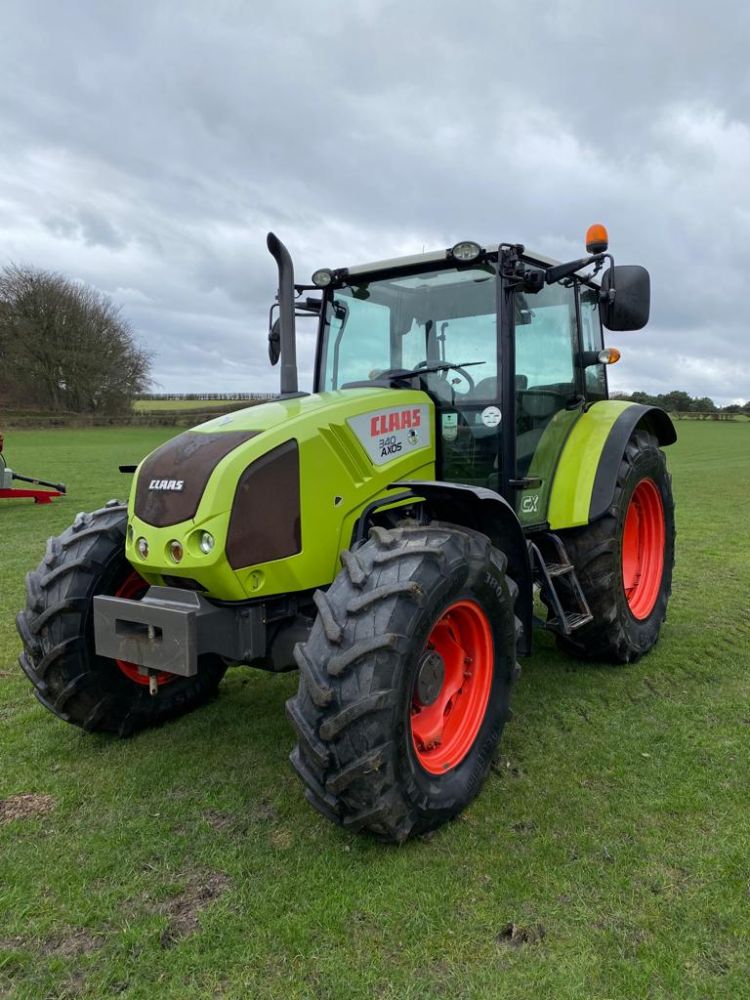
<instances>
[{"instance_id":1,"label":"orange rim of the large front wheel nearest the camera","mask_svg":"<svg viewBox=\"0 0 750 1000\"><path fill-rule=\"evenodd\" d=\"M489 618L475 601L456 601L432 628L417 668L411 737L417 760L445 774L466 757L487 713L495 650Z\"/></svg>"}]
</instances>

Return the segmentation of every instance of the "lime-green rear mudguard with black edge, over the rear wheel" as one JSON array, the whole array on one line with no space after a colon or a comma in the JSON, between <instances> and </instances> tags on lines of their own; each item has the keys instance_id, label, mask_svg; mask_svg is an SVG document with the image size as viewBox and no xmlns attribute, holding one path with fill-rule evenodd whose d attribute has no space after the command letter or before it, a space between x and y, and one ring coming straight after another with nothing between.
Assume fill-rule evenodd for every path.
<instances>
[{"instance_id":1,"label":"lime-green rear mudguard with black edge, over the rear wheel","mask_svg":"<svg viewBox=\"0 0 750 1000\"><path fill-rule=\"evenodd\" d=\"M671 419L657 406L606 399L581 416L555 470L548 511L552 530L589 524L606 513L625 445L638 427L655 434L660 445L677 440Z\"/></svg>"}]
</instances>

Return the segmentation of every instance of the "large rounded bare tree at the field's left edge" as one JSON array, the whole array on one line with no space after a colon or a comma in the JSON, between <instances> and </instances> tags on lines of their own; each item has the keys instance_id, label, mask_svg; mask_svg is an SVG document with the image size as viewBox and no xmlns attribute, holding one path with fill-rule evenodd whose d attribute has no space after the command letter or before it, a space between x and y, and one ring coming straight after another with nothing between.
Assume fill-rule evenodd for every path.
<instances>
[{"instance_id":1,"label":"large rounded bare tree at the field's left edge","mask_svg":"<svg viewBox=\"0 0 750 1000\"><path fill-rule=\"evenodd\" d=\"M3 398L113 413L148 388L150 367L150 355L106 295L49 271L0 271Z\"/></svg>"}]
</instances>

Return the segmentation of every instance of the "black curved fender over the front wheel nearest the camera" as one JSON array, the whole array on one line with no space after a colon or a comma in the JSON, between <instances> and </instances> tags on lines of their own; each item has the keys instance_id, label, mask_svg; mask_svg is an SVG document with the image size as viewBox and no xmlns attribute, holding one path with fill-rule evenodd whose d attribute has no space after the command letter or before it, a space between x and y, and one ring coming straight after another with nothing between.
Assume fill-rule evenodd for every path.
<instances>
[{"instance_id":1,"label":"black curved fender over the front wheel nearest the camera","mask_svg":"<svg viewBox=\"0 0 750 1000\"><path fill-rule=\"evenodd\" d=\"M460 524L481 531L508 558L508 572L518 584L516 615L521 619L523 635L518 652L531 653L533 577L529 549L516 513L494 490L444 482L400 482L426 501L430 515L440 521Z\"/></svg>"}]
</instances>

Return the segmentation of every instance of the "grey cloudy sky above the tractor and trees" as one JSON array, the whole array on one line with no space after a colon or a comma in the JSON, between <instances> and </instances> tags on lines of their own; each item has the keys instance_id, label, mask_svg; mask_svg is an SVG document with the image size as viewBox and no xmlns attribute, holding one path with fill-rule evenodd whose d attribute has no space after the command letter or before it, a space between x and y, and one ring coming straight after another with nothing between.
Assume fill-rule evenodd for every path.
<instances>
[{"instance_id":1,"label":"grey cloudy sky above the tractor and trees","mask_svg":"<svg viewBox=\"0 0 750 1000\"><path fill-rule=\"evenodd\" d=\"M277 388L269 229L306 280L459 239L573 258L602 221L652 277L614 387L750 397L740 0L5 0L2 21L0 265L109 294L160 391Z\"/></svg>"}]
</instances>

